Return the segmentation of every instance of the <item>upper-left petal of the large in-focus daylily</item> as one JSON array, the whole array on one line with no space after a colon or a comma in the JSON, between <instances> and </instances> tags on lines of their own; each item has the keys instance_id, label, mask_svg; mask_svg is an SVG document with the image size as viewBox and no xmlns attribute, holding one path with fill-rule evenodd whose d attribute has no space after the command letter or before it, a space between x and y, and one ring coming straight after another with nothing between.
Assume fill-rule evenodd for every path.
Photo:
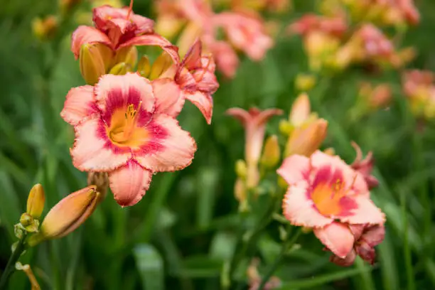
<instances>
[{"instance_id":1,"label":"upper-left petal of the large in-focus daylily","mask_svg":"<svg viewBox=\"0 0 435 290\"><path fill-rule=\"evenodd\" d=\"M66 96L63 110L60 112L65 122L73 126L79 124L82 119L97 112L94 101L94 87L84 85L82 87L74 87Z\"/></svg>"}]
</instances>

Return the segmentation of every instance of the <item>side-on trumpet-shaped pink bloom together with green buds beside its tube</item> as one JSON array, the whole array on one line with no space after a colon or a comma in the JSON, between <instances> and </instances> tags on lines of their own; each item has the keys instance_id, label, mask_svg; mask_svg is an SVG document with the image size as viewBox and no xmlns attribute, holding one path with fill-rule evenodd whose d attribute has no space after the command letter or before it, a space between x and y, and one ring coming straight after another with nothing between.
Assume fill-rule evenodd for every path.
<instances>
[{"instance_id":1,"label":"side-on trumpet-shaped pink bloom together with green buds beside its tube","mask_svg":"<svg viewBox=\"0 0 435 290\"><path fill-rule=\"evenodd\" d=\"M269 136L263 149L264 134L268 120L282 114L280 109L266 109L261 111L251 108L245 111L240 108L227 110L227 114L238 119L245 127L245 160L237 161L235 183L235 196L240 202L240 209L247 209L247 190L254 190L259 185L260 169L274 168L280 158L278 138ZM263 152L263 154L262 154Z\"/></svg>"}]
</instances>

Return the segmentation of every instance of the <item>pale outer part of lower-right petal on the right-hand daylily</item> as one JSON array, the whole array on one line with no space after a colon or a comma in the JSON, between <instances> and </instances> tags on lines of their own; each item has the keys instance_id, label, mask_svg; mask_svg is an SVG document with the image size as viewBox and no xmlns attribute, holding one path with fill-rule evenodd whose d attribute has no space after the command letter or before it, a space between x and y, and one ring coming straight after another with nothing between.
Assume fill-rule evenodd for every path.
<instances>
[{"instance_id":1,"label":"pale outer part of lower-right petal on the right-hand daylily","mask_svg":"<svg viewBox=\"0 0 435 290\"><path fill-rule=\"evenodd\" d=\"M351 210L351 215L340 217L342 222L350 224L382 224L385 222L385 214L377 208L375 203L367 196L358 195L354 198L357 208Z\"/></svg>"}]
</instances>

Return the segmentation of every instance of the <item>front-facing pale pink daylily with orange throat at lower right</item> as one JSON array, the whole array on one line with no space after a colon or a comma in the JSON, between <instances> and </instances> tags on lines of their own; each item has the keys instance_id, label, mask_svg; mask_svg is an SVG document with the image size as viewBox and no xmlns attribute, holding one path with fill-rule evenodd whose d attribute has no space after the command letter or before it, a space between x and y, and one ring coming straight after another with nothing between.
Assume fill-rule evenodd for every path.
<instances>
[{"instance_id":1,"label":"front-facing pale pink daylily with orange throat at lower right","mask_svg":"<svg viewBox=\"0 0 435 290\"><path fill-rule=\"evenodd\" d=\"M385 215L370 200L364 176L338 156L316 151L293 155L276 171L289 184L283 211L292 225L313 228L319 240L344 259L355 238L347 225L381 225Z\"/></svg>"}]
</instances>

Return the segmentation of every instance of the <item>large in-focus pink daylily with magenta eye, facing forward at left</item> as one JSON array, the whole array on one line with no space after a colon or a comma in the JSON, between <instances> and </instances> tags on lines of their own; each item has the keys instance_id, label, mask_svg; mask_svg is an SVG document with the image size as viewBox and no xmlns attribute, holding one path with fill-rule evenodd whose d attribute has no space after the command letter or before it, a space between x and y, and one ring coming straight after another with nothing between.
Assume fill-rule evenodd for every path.
<instances>
[{"instance_id":1,"label":"large in-focus pink daylily with magenta eye, facing forward at left","mask_svg":"<svg viewBox=\"0 0 435 290\"><path fill-rule=\"evenodd\" d=\"M172 80L150 82L136 73L104 75L95 87L70 90L61 116L75 128L74 166L107 172L117 203L138 203L154 172L192 162L195 141L175 119L180 95Z\"/></svg>"}]
</instances>

